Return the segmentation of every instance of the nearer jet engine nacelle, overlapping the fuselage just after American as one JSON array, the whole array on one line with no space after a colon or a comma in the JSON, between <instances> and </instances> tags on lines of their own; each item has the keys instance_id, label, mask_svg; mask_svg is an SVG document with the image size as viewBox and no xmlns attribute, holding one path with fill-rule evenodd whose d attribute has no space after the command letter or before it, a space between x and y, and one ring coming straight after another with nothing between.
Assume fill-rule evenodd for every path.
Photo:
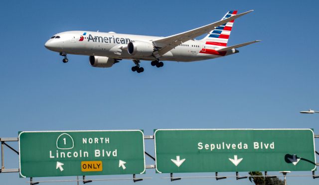
<instances>
[{"instance_id":1,"label":"nearer jet engine nacelle, overlapping the fuselage just after American","mask_svg":"<svg viewBox=\"0 0 319 185\"><path fill-rule=\"evenodd\" d=\"M128 52L130 55L138 56L138 57L148 57L153 54L153 44L144 41L131 41L128 44Z\"/></svg>"}]
</instances>

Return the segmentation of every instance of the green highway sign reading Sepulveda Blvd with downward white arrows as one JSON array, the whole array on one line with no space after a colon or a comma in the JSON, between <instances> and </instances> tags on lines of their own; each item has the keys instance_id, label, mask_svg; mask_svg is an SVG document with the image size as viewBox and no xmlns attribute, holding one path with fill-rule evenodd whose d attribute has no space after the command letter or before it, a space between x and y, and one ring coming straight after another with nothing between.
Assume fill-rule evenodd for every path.
<instances>
[{"instance_id":1,"label":"green highway sign reading Sepulveda Blvd with downward white arrows","mask_svg":"<svg viewBox=\"0 0 319 185\"><path fill-rule=\"evenodd\" d=\"M314 171L311 129L159 129L157 173Z\"/></svg>"}]
</instances>

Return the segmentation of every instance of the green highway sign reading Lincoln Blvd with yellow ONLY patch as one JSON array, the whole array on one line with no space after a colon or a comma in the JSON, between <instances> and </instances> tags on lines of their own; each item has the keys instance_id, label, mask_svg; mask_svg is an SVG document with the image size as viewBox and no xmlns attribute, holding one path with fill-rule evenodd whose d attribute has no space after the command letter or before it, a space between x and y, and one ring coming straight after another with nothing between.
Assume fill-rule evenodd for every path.
<instances>
[{"instance_id":1,"label":"green highway sign reading Lincoln Blvd with yellow ONLY patch","mask_svg":"<svg viewBox=\"0 0 319 185\"><path fill-rule=\"evenodd\" d=\"M19 133L21 177L145 173L141 130Z\"/></svg>"}]
</instances>

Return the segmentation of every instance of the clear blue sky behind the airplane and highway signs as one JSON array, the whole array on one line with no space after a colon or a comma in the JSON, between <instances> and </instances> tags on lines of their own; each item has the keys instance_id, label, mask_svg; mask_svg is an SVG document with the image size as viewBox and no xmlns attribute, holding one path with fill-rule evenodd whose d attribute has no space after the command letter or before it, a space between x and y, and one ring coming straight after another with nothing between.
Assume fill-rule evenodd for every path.
<instances>
[{"instance_id":1,"label":"clear blue sky behind the airplane and highway signs","mask_svg":"<svg viewBox=\"0 0 319 185\"><path fill-rule=\"evenodd\" d=\"M155 128L314 128L318 134L319 114L299 113L319 110L318 5L316 0L5 1L0 6L0 137L16 137L18 131L27 130L91 129L144 129L152 135ZM70 55L64 64L58 53L44 48L52 35L67 30L169 36L217 21L233 9L255 11L235 21L228 44L262 42L224 58L164 62L162 68L142 61L145 72L137 74L129 60L102 69L90 67L88 56ZM147 141L146 150L154 153L153 148ZM5 166L17 168L17 156L5 152ZM143 177L153 180L141 185L170 184L161 179L168 174L154 170ZM0 181L18 185L27 180L1 174ZM174 184L211 181L215 180ZM318 181L288 178L290 185Z\"/></svg>"}]
</instances>

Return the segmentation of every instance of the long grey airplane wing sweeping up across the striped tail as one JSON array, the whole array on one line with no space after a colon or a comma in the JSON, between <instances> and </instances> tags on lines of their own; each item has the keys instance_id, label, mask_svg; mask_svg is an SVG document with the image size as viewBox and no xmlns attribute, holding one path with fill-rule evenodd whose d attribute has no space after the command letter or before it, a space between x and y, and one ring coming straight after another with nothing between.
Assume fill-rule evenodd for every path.
<instances>
[{"instance_id":1,"label":"long grey airplane wing sweeping up across the striped tail","mask_svg":"<svg viewBox=\"0 0 319 185\"><path fill-rule=\"evenodd\" d=\"M168 37L160 38L157 40L153 40L153 44L155 45L156 51L154 52L155 57L160 57L170 51L171 49L175 48L181 43L184 43L188 40L194 40L194 38L204 34L204 33L209 33L211 30L213 30L215 27L220 26L222 24L225 24L229 21L232 21L240 16L243 16L251 11L254 10L249 10L244 13L240 13L231 17L228 17L226 19L207 24L205 26L195 28L186 32L178 33L175 35L171 35Z\"/></svg>"}]
</instances>

